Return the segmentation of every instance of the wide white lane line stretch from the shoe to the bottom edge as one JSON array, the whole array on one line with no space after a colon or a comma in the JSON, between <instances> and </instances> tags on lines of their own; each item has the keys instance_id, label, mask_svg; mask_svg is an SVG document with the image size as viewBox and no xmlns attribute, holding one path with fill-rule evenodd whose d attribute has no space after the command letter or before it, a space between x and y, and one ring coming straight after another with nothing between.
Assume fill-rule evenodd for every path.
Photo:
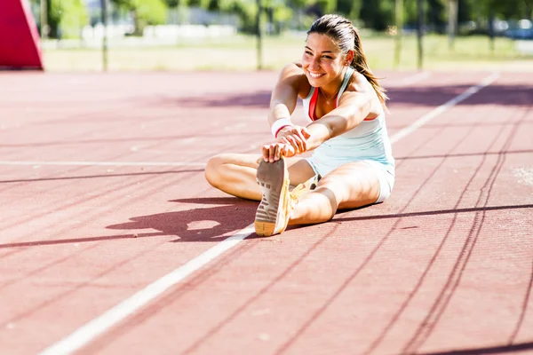
<instances>
[{"instance_id":1,"label":"wide white lane line stretch from the shoe to the bottom edge","mask_svg":"<svg viewBox=\"0 0 533 355\"><path fill-rule=\"evenodd\" d=\"M191 273L210 263L228 249L235 247L235 245L243 241L251 233L254 233L253 224L243 228L224 241L220 241L219 244L207 249L173 272L164 275L161 279L143 288L135 295L124 300L121 304L115 305L115 307L103 313L98 318L92 319L89 323L78 328L74 333L68 335L60 342L40 352L40 355L70 354L73 351L79 350L85 344L91 343L96 336L104 333L109 327L113 327L116 323L130 316L143 305L153 301L155 297L160 296L164 291L176 285Z\"/></svg>"}]
</instances>

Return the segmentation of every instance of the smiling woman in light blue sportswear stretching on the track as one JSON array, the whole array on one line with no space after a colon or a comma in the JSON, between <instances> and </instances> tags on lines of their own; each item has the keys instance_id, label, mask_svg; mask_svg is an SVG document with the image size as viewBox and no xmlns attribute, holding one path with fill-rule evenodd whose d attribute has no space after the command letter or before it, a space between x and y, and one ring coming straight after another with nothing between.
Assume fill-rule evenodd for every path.
<instances>
[{"instance_id":1,"label":"smiling woman in light blue sportswear stretching on the track","mask_svg":"<svg viewBox=\"0 0 533 355\"><path fill-rule=\"evenodd\" d=\"M290 122L298 98L309 124ZM385 91L371 73L349 20L325 15L307 31L301 62L284 67L272 92L274 142L254 154L220 154L207 163L211 185L260 200L256 233L330 220L338 209L385 201L394 185ZM299 154L313 151L310 157ZM290 185L298 185L290 191Z\"/></svg>"}]
</instances>

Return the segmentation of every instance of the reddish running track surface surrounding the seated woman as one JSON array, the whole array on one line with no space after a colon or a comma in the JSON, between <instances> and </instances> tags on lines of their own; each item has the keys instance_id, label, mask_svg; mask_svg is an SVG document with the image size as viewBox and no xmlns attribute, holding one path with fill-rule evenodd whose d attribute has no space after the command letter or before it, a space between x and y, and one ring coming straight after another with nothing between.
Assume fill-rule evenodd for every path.
<instances>
[{"instance_id":1,"label":"reddish running track surface surrounding the seated woman","mask_svg":"<svg viewBox=\"0 0 533 355\"><path fill-rule=\"evenodd\" d=\"M265 239L203 164L276 73L0 75L0 353L533 351L529 77L378 75L391 198Z\"/></svg>"}]
</instances>

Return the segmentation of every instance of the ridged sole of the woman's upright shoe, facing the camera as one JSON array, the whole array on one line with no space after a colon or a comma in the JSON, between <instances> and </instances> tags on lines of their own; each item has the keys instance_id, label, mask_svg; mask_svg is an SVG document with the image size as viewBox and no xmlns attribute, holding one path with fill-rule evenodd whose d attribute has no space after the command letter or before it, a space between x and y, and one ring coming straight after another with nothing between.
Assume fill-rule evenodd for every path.
<instances>
[{"instance_id":1,"label":"ridged sole of the woman's upright shoe, facing the camera","mask_svg":"<svg viewBox=\"0 0 533 355\"><path fill-rule=\"evenodd\" d=\"M288 175L284 159L277 162L259 162L257 180L263 198L259 203L254 222L259 236L269 237L275 233L276 222L280 215L283 186Z\"/></svg>"}]
</instances>

